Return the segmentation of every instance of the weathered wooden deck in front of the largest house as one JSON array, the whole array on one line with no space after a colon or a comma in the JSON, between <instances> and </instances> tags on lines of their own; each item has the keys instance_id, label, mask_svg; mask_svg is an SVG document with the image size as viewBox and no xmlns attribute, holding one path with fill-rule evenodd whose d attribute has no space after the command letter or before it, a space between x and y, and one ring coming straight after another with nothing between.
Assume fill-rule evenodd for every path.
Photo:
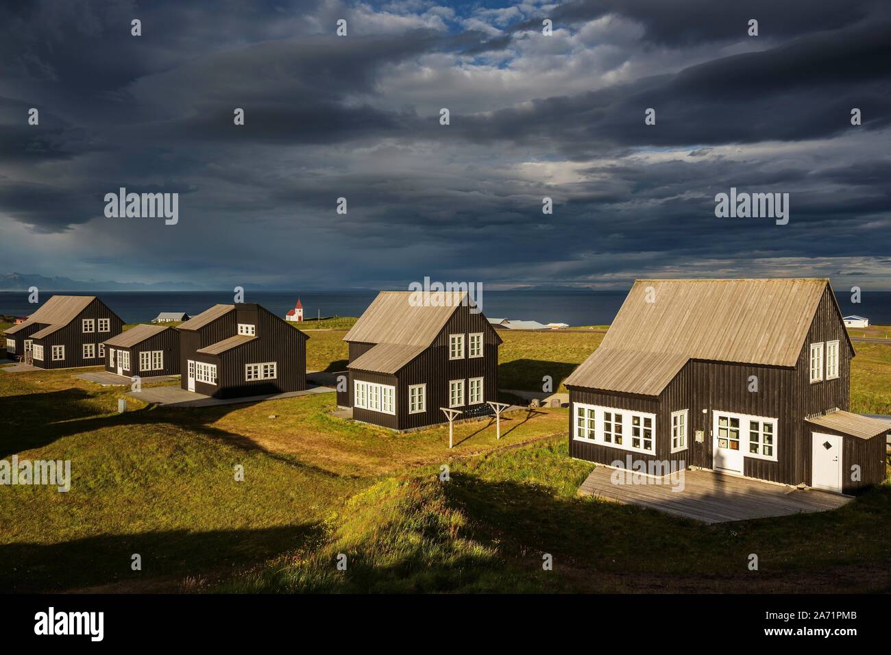
<instances>
[{"instance_id":1,"label":"weathered wooden deck in front of the largest house","mask_svg":"<svg viewBox=\"0 0 891 655\"><path fill-rule=\"evenodd\" d=\"M683 486L675 484L676 487L683 487L680 491L673 491L674 487L667 478L646 479L648 484L617 485L611 479L613 472L614 469L598 466L584 480L578 492L623 504L650 507L704 523L828 512L853 500L846 495L816 489L799 490L712 471L683 471Z\"/></svg>"}]
</instances>

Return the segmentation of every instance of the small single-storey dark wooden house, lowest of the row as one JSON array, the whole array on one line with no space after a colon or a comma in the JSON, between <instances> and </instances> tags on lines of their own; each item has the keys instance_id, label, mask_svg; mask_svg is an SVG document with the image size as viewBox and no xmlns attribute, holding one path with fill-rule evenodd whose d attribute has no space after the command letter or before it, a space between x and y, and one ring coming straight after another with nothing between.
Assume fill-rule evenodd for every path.
<instances>
[{"instance_id":1,"label":"small single-storey dark wooden house, lowest of the row","mask_svg":"<svg viewBox=\"0 0 891 655\"><path fill-rule=\"evenodd\" d=\"M141 378L179 373L179 333L167 325L135 325L105 341L105 370Z\"/></svg>"}]
</instances>

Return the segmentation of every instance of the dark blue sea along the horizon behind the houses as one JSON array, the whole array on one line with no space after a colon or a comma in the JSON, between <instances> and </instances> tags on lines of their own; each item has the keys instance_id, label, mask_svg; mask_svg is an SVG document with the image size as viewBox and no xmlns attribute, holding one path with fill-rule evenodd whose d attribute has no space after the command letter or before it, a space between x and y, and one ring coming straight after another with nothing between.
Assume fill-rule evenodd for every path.
<instances>
[{"instance_id":1,"label":"dark blue sea along the horizon behind the houses","mask_svg":"<svg viewBox=\"0 0 891 655\"><path fill-rule=\"evenodd\" d=\"M58 291L96 295L127 323L150 321L160 312L196 315L217 303L233 302L228 291ZM483 312L489 318L602 325L612 323L627 291L483 291ZM42 291L48 299L53 291ZM245 302L257 302L284 316L299 298L307 318L358 316L371 304L376 291L246 291ZM891 291L863 291L861 303L837 294L844 315L866 316L871 323L891 323ZM25 291L0 291L0 315L29 315L35 307Z\"/></svg>"}]
</instances>

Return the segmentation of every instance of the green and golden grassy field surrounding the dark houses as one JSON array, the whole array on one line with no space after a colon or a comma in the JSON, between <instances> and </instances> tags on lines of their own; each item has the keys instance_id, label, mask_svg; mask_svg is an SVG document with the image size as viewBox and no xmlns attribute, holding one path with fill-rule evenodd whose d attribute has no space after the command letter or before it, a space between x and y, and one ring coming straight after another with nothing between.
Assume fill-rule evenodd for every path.
<instances>
[{"instance_id":1,"label":"green and golden grassy field surrounding the dark houses","mask_svg":"<svg viewBox=\"0 0 891 655\"><path fill-rule=\"evenodd\" d=\"M340 370L344 333L309 332L307 367ZM602 334L502 332L501 386L557 389ZM856 348L854 410L891 413L891 346ZM0 487L0 591L891 591L887 483L707 527L577 497L593 465L568 457L564 409L512 413L500 441L458 424L449 451L444 428L332 417L332 394L118 414L118 389L72 373L0 372L0 459L69 459L73 479Z\"/></svg>"}]
</instances>

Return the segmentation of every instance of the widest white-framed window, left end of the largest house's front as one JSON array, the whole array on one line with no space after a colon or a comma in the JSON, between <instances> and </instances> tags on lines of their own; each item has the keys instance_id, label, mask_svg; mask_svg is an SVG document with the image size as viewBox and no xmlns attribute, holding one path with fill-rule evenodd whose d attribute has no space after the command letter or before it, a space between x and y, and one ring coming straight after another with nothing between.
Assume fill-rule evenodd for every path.
<instances>
[{"instance_id":1,"label":"widest white-framed window, left end of the largest house's front","mask_svg":"<svg viewBox=\"0 0 891 655\"><path fill-rule=\"evenodd\" d=\"M585 403L574 405L574 439L656 454L656 414Z\"/></svg>"}]
</instances>

